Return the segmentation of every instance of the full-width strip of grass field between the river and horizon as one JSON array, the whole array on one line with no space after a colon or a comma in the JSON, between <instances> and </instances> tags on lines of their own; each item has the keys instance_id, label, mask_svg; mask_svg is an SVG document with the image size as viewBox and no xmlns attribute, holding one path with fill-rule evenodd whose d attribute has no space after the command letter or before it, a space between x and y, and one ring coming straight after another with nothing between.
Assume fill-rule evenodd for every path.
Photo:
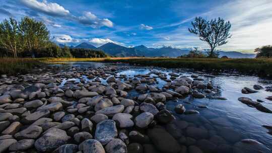
<instances>
[{"instance_id":1,"label":"full-width strip of grass field between the river and horizon","mask_svg":"<svg viewBox=\"0 0 272 153\"><path fill-rule=\"evenodd\" d=\"M160 66L166 68L194 68L208 71L239 71L256 74L260 77L272 77L272 59L222 59L222 58L143 58L143 57L112 57L112 58L1 58L0 73L20 72L39 65L41 62L93 61L93 62L125 62L142 66ZM4 61L2 61L4 60ZM11 64L8 64L11 63Z\"/></svg>"}]
</instances>

